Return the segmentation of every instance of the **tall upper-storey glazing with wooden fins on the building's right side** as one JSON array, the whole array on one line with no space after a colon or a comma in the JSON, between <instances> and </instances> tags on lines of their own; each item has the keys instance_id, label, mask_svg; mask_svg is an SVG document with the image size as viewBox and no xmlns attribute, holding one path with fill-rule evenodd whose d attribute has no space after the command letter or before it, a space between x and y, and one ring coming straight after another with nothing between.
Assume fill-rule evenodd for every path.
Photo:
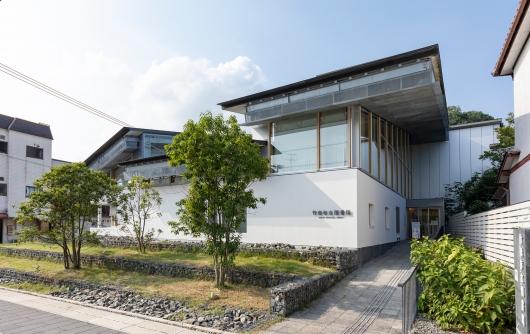
<instances>
[{"instance_id":1,"label":"tall upper-storey glazing with wooden fins on the building's right side","mask_svg":"<svg viewBox=\"0 0 530 334\"><path fill-rule=\"evenodd\" d=\"M362 110L360 167L404 197L411 195L410 136L386 120Z\"/></svg>"}]
</instances>

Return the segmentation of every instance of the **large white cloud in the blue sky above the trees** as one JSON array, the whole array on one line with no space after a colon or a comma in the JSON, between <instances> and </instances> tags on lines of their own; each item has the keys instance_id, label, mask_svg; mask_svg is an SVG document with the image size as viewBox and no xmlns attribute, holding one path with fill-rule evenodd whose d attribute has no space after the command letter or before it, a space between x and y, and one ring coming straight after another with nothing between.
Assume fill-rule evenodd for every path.
<instances>
[{"instance_id":1,"label":"large white cloud in the blue sky above the trees","mask_svg":"<svg viewBox=\"0 0 530 334\"><path fill-rule=\"evenodd\" d=\"M134 83L131 122L135 126L178 131L219 102L262 89L260 67L244 56L213 66L207 59L175 56L151 68Z\"/></svg>"}]
</instances>

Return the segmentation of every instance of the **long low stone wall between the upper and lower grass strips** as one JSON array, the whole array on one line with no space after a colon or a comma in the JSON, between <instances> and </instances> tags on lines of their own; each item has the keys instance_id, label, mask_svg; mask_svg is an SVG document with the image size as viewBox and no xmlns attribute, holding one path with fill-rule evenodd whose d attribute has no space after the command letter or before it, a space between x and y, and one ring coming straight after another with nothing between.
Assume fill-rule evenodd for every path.
<instances>
[{"instance_id":1,"label":"long low stone wall between the upper and lower grass strips","mask_svg":"<svg viewBox=\"0 0 530 334\"><path fill-rule=\"evenodd\" d=\"M0 254L8 256L21 256L38 260L51 259L55 261L63 261L63 254L57 252L2 247L0 248ZM200 267L163 262L148 262L119 257L91 255L81 255L81 265L137 271L147 273L149 275L189 277L206 281L215 280L215 272L212 267ZM260 287L272 287L300 277L293 274L270 273L251 270L229 270L226 275L226 279L229 283L248 284Z\"/></svg>"}]
</instances>

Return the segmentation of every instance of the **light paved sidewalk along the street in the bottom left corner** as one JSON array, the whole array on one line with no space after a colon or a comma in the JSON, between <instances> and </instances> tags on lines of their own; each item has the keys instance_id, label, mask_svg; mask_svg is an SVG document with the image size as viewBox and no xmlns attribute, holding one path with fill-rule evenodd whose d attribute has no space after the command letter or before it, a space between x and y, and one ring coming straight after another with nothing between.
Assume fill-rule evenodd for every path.
<instances>
[{"instance_id":1,"label":"light paved sidewalk along the street in the bottom left corner","mask_svg":"<svg viewBox=\"0 0 530 334\"><path fill-rule=\"evenodd\" d=\"M0 288L0 333L2 334L196 334L193 326L175 326L168 321L111 312L59 298ZM222 333L209 330L210 333Z\"/></svg>"}]
</instances>

